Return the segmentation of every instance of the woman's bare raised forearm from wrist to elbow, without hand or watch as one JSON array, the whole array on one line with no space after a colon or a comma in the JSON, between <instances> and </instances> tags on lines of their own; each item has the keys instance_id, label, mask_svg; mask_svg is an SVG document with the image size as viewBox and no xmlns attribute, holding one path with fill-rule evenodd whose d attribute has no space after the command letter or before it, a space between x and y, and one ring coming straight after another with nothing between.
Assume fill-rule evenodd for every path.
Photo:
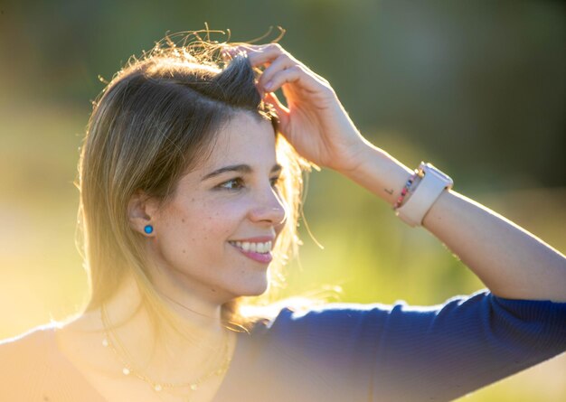
<instances>
[{"instance_id":1,"label":"woman's bare raised forearm from wrist to elbow, without hand or watch","mask_svg":"<svg viewBox=\"0 0 566 402\"><path fill-rule=\"evenodd\" d=\"M392 205L410 173L373 146L368 146L362 160L356 171L345 174ZM453 190L442 192L422 226L456 254L493 294L509 299L566 302L566 257L478 202Z\"/></svg>"}]
</instances>

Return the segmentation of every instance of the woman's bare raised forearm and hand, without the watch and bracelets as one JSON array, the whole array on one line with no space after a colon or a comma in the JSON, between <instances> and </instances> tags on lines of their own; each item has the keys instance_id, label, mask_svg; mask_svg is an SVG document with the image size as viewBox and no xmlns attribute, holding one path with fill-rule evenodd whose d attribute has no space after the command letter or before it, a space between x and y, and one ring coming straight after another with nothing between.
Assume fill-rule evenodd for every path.
<instances>
[{"instance_id":1,"label":"woman's bare raised forearm and hand, without the watch and bracelets","mask_svg":"<svg viewBox=\"0 0 566 402\"><path fill-rule=\"evenodd\" d=\"M329 83L279 45L246 45L258 88L278 110L281 133L309 161L334 169L391 205L412 171L370 144L347 116ZM288 106L273 93L282 89ZM495 295L566 302L566 257L493 210L452 190L425 215L429 229Z\"/></svg>"}]
</instances>

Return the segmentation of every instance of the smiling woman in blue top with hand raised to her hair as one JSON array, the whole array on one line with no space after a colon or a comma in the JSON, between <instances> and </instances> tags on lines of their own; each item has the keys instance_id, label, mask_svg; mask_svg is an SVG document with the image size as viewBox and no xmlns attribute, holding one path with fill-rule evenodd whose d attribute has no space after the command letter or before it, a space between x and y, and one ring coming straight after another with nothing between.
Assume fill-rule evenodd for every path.
<instances>
[{"instance_id":1,"label":"smiling woman in blue top with hand raised to her hair","mask_svg":"<svg viewBox=\"0 0 566 402\"><path fill-rule=\"evenodd\" d=\"M167 43L121 70L90 117L90 304L3 342L0 399L449 400L566 350L561 253L432 165L413 172L370 144L278 44ZM297 246L311 165L428 229L489 291L429 308L251 308Z\"/></svg>"}]
</instances>

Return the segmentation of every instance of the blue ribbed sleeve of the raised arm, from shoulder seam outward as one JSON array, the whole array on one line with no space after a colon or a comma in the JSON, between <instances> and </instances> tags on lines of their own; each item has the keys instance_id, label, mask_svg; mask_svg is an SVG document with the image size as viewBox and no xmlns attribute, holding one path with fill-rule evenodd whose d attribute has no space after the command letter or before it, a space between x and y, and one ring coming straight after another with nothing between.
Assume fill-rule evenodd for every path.
<instances>
[{"instance_id":1,"label":"blue ribbed sleeve of the raised arm, from shoulder seam outward","mask_svg":"<svg viewBox=\"0 0 566 402\"><path fill-rule=\"evenodd\" d=\"M566 351L566 304L483 291L396 304L381 331L373 400L451 400Z\"/></svg>"}]
</instances>

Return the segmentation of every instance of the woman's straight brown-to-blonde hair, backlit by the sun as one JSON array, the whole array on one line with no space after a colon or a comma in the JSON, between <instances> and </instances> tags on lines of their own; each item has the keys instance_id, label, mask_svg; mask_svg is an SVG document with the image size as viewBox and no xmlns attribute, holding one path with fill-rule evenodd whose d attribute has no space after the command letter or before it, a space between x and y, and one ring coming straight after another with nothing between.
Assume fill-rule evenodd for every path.
<instances>
[{"instance_id":1,"label":"woman's straight brown-to-blonde hair, backlit by the sun","mask_svg":"<svg viewBox=\"0 0 566 402\"><path fill-rule=\"evenodd\" d=\"M279 193L287 210L269 267L268 291L222 306L227 326L248 330L269 315L258 313L260 307L275 305L285 284L283 266L297 252L302 173L310 164L278 134L277 116L255 87L259 71L245 54L224 60L222 48L229 44L203 41L198 34L195 38L177 45L166 37L139 59L132 57L93 102L78 184L80 240L90 286L86 311L108 302L123 279L132 276L154 323L166 320L175 328L175 313L152 285L143 235L130 227L128 202L141 191L166 203L180 178L211 153L222 126L244 111L274 127L283 166Z\"/></svg>"}]
</instances>

